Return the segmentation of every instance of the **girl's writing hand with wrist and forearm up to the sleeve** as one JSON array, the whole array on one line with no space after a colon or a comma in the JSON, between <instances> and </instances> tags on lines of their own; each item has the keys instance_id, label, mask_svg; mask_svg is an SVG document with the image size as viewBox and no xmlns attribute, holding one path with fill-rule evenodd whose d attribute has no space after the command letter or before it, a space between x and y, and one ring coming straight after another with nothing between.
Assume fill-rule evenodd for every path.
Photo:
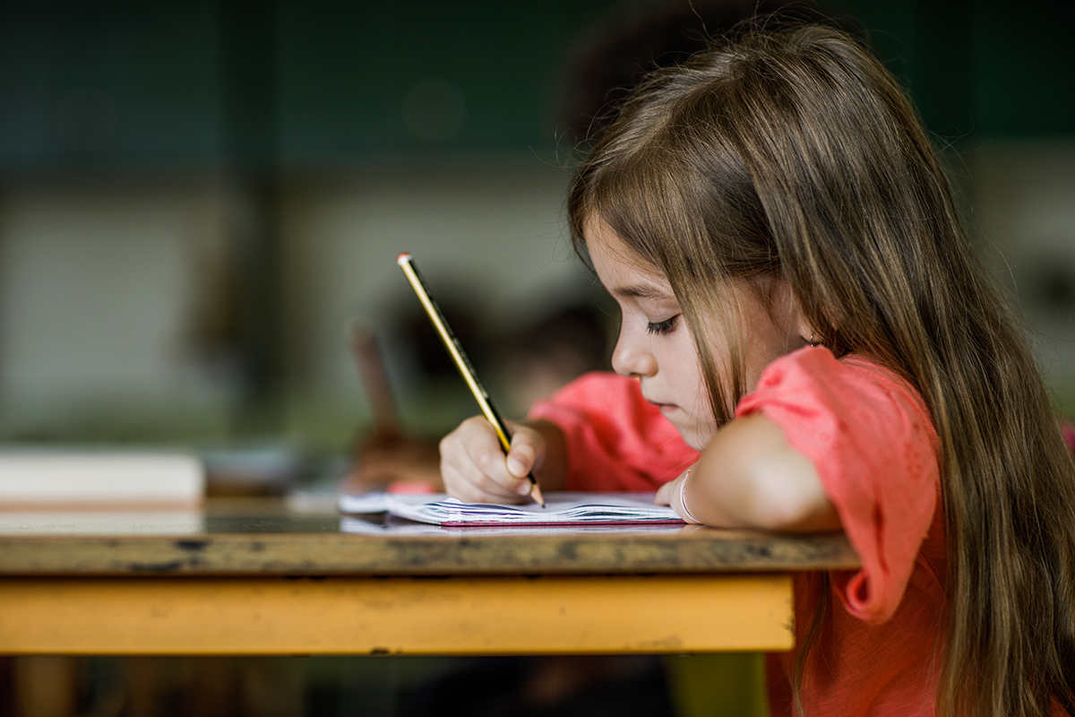
<instances>
[{"instance_id":1,"label":"girl's writing hand with wrist and forearm up to the sleeve","mask_svg":"<svg viewBox=\"0 0 1075 717\"><path fill-rule=\"evenodd\" d=\"M543 491L563 490L563 432L547 420L506 422L512 432L506 456L482 416L468 418L441 441L441 475L449 496L468 503L517 503L530 492L530 471Z\"/></svg>"}]
</instances>

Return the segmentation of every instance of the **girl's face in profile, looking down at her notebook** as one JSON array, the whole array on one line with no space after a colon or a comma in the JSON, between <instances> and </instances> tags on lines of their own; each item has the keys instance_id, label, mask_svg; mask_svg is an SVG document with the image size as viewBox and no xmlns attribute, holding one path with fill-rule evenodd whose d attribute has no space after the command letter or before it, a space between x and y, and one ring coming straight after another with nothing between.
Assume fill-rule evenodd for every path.
<instances>
[{"instance_id":1,"label":"girl's face in profile, looking down at her notebook","mask_svg":"<svg viewBox=\"0 0 1075 717\"><path fill-rule=\"evenodd\" d=\"M622 312L613 369L637 378L645 399L660 408L689 446L701 450L717 425L693 338L671 285L604 223L591 220L586 229L593 268ZM763 288L769 299L764 303L745 284L733 287L734 296L729 297L729 305L737 303L742 316L748 390L752 390L765 365L806 343L802 334L805 325L787 283L773 279ZM719 345L711 347L718 370L728 367L730 360L719 326L715 322L711 332L719 341ZM729 385L726 375L720 378L725 386Z\"/></svg>"}]
</instances>

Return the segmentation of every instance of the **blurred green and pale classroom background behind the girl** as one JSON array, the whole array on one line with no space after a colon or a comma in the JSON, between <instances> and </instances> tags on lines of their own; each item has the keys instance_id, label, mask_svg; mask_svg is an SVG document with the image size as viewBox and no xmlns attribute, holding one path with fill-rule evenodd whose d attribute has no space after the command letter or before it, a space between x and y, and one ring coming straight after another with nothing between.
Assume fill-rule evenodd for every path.
<instances>
[{"instance_id":1,"label":"blurred green and pale classroom background behind the girl","mask_svg":"<svg viewBox=\"0 0 1075 717\"><path fill-rule=\"evenodd\" d=\"M700 15L754 4L693 3ZM513 370L530 370L520 336L578 306L598 334L615 322L602 324L563 226L586 130L580 73L611 33L683 6L0 2L0 443L178 446L301 487L371 429L355 325L378 340L404 429L442 434L476 410L424 333L401 250L493 398L521 415L543 384L513 392ZM1073 5L825 6L857 17L906 83L1058 408L1075 415ZM140 664L82 670L104 689ZM358 697L367 683L401 664L442 669L305 664L307 714L397 714L393 693ZM239 714L241 686L281 669L246 679L228 665L167 671L231 690L190 714ZM269 679L285 697L242 714L298 714L299 673L282 674ZM98 697L94 714L112 714ZM181 702L143 714L187 714Z\"/></svg>"}]
</instances>

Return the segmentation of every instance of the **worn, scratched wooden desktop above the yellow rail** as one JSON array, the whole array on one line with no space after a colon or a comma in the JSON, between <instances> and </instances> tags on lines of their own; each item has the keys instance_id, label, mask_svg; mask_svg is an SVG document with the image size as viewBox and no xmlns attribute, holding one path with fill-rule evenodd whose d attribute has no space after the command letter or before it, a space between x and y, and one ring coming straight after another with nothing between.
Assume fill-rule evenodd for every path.
<instances>
[{"instance_id":1,"label":"worn, scratched wooden desktop above the yellow rail","mask_svg":"<svg viewBox=\"0 0 1075 717\"><path fill-rule=\"evenodd\" d=\"M483 575L775 572L859 565L842 534L690 527L562 534L349 534L331 512L217 501L189 515L0 516L0 575ZM137 525L135 525L137 524Z\"/></svg>"}]
</instances>

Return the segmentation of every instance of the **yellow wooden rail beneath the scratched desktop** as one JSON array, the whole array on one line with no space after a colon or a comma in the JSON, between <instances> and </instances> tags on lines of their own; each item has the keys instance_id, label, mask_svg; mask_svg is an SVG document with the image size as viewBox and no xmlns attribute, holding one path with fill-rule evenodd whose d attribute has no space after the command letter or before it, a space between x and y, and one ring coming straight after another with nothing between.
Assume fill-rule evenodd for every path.
<instances>
[{"instance_id":1,"label":"yellow wooden rail beneath the scratched desktop","mask_svg":"<svg viewBox=\"0 0 1075 717\"><path fill-rule=\"evenodd\" d=\"M0 654L787 650L787 575L0 578Z\"/></svg>"}]
</instances>

